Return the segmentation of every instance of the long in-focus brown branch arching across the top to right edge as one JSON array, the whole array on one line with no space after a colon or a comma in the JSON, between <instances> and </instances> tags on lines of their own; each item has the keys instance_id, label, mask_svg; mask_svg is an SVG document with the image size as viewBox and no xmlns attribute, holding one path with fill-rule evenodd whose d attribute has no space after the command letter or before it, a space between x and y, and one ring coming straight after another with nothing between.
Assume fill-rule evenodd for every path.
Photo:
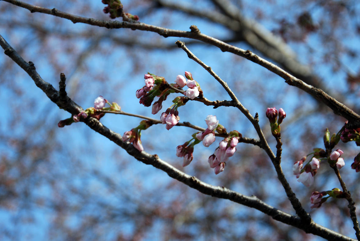
<instances>
[{"instance_id":1,"label":"long in-focus brown branch arching across the top to right edge","mask_svg":"<svg viewBox=\"0 0 360 241\"><path fill-rule=\"evenodd\" d=\"M17 0L3 0L8 3L20 6L22 8L26 8L30 10L30 12L39 12L39 13L46 13L50 15L54 15L61 18L66 18L71 20L73 23L86 23L94 26L99 27L106 27L106 28L131 28L131 29L138 29L142 31L150 31L158 33L159 35L163 37L186 37L186 38L193 38L197 39L203 42L206 42L208 44L214 45L216 47L219 47L221 51L227 51L239 56L242 56L248 60L251 60L254 63L257 63L261 65L262 67L265 67L266 69L269 69L269 71L277 74L278 76L285 79L285 82L289 85L296 86L303 91L309 93L315 99L319 100L320 102L324 103L325 105L329 106L335 114L341 115L342 117L346 118L349 122L359 122L360 121L360 115L352 111L350 108L345 106L344 104L340 103L339 101L335 100L333 97L329 96L327 93L325 93L323 90L319 88L315 88L314 86L308 85L305 82L303 82L301 79L298 79L288 72L284 71L282 68L276 66L275 64L261 58L260 56L252 53L249 50L243 50L238 47L235 47L230 44L226 44L225 42L222 42L220 40L217 40L216 38L204 35L202 33L198 32L186 32L186 31L179 31L174 29L168 29L168 28L162 28L158 26L153 26L150 24L145 24L141 22L118 22L118 21L103 21L98 20L94 18L85 18L80 17L74 14L65 13L62 11L59 11L55 8L48 9L48 8L42 8L39 6L34 6L31 4L23 3L21 1Z\"/></svg>"}]
</instances>

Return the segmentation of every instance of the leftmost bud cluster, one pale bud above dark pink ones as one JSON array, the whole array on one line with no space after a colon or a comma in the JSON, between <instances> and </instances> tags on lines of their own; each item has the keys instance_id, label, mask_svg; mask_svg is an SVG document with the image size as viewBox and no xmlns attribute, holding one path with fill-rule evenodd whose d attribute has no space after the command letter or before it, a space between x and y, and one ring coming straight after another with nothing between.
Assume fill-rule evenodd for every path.
<instances>
[{"instance_id":1,"label":"leftmost bud cluster, one pale bud above dark pink ones","mask_svg":"<svg viewBox=\"0 0 360 241\"><path fill-rule=\"evenodd\" d=\"M108 103L110 107L105 108L106 103ZM59 121L58 127L71 125L73 122L79 122L81 118L86 119L88 116L100 120L100 118L102 118L105 115L105 113L99 112L99 110L120 111L121 107L116 102L110 104L107 101L107 99L105 99L103 96L100 95L95 99L94 107L90 107L87 108L86 110L82 110L79 114L73 115L72 118Z\"/></svg>"}]
</instances>

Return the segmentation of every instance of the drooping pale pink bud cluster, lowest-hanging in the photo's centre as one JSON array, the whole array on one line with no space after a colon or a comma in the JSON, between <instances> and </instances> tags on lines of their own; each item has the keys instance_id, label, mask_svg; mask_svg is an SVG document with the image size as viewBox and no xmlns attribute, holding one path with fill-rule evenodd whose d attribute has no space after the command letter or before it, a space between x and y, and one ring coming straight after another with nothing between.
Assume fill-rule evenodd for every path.
<instances>
[{"instance_id":1,"label":"drooping pale pink bud cluster, lowest-hanging in the photo's centre","mask_svg":"<svg viewBox=\"0 0 360 241\"><path fill-rule=\"evenodd\" d=\"M228 137L220 141L215 153L209 156L208 163L211 168L215 168L215 174L219 174L224 170L226 161L234 155L241 137L242 135L238 131L231 131Z\"/></svg>"}]
</instances>

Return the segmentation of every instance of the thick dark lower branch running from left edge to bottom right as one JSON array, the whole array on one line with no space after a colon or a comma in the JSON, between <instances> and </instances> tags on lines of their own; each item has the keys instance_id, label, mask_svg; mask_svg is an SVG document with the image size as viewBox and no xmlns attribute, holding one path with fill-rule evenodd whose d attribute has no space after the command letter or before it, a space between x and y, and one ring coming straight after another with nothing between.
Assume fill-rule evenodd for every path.
<instances>
[{"instance_id":1,"label":"thick dark lower branch running from left edge to bottom right","mask_svg":"<svg viewBox=\"0 0 360 241\"><path fill-rule=\"evenodd\" d=\"M78 114L82 110L79 105L77 105L69 98L67 98L66 102L60 101L59 92L55 90L55 88L50 83L45 82L40 77L40 75L35 70L34 64L32 62L27 63L20 55L17 54L17 52L4 40L1 35L0 45L1 47L3 47L4 53L8 55L22 69L24 69L26 73L28 73L28 75L33 79L36 86L39 87L46 94L46 96L49 97L51 101L57 104L60 108L67 110L71 114ZM95 118L86 118L84 122L94 131L100 133L101 135L107 137L109 140L116 143L118 146L122 147L124 150L127 151L127 153L129 153L131 156L134 156L134 158L145 164L153 165L154 167L163 170L170 177L180 182L183 182L185 185L188 185L189 187L192 187L202 192L203 194L211 195L222 199L229 199L231 201L234 201L235 203L246 205L251 208L256 208L257 210L260 210L261 212L270 215L275 220L297 227L307 233L312 233L328 240L354 241L354 239L341 235L340 233L334 232L323 226L320 226L319 224L314 223L312 220L310 223L304 223L302 219L294 215L285 213L279 209L276 209L273 206L264 203L255 196L249 197L239 194L238 192L229 190L225 187L212 186L210 184L202 182L196 177L192 177L184 172L181 172L172 165L161 160L156 154L150 155L145 151L139 152L129 142L123 142L120 134L111 131Z\"/></svg>"}]
</instances>

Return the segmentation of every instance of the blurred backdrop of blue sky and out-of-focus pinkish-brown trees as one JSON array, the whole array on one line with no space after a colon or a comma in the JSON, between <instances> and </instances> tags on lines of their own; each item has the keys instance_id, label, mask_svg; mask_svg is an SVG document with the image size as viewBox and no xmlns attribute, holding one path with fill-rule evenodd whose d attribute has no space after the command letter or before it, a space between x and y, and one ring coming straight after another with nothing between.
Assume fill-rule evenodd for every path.
<instances>
[{"instance_id":1,"label":"blurred backdrop of blue sky and out-of-focus pinkish-brown trees","mask_svg":"<svg viewBox=\"0 0 360 241\"><path fill-rule=\"evenodd\" d=\"M57 8L84 17L109 20L100 0L44 1L29 4ZM351 0L303 1L122 1L125 11L139 21L188 31L196 25L202 33L231 45L249 49L279 65L306 83L359 113L360 3ZM260 126L275 150L265 117L267 107L283 108L282 167L297 197L315 222L355 237L346 200L329 199L310 211L313 191L340 187L328 165L323 165L310 188L292 174L295 161L323 147L324 129L337 132L346 121L307 93L287 85L279 76L237 55L186 38L163 38L131 29L106 29L73 24L67 19L0 1L1 35L35 63L41 77L57 86L59 73L67 76L68 96L84 108L102 95L126 112L159 119L138 103L135 91L147 72L169 83L190 71L204 95L229 99L220 85L190 60L174 42L186 46L224 79ZM120 20L121 21L121 20ZM0 55L0 226L1 240L322 240L267 215L228 200L206 196L138 162L107 138L83 123L58 128L69 114L54 105L30 77L10 58ZM169 97L163 110L171 105ZM206 127L208 114L217 115L228 131L257 138L251 123L230 107L212 109L191 102L180 109L180 121ZM107 114L105 126L118 133L129 131L141 119ZM217 143L197 145L193 162L183 168L176 146L190 139L193 129L167 131L154 125L143 131L145 151L158 154L176 168L212 185L295 214L266 153L239 144L219 175L207 159ZM341 175L353 198L359 201L358 175L350 168L357 154L355 143L339 144L344 150ZM356 206L357 207L357 206Z\"/></svg>"}]
</instances>

